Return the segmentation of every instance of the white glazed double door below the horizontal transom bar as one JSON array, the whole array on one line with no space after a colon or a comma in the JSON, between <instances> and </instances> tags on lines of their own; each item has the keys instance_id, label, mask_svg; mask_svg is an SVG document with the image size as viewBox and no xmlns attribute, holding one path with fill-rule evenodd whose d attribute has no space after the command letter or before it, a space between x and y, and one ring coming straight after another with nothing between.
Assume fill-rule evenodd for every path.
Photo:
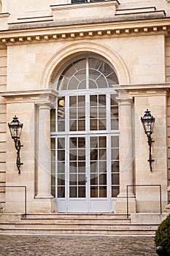
<instances>
[{"instance_id":1,"label":"white glazed double door below the horizontal transom bar","mask_svg":"<svg viewBox=\"0 0 170 256\"><path fill-rule=\"evenodd\" d=\"M117 144L117 135L65 135L56 140L58 211L112 212L112 166L118 162L118 148L112 145Z\"/></svg>"}]
</instances>

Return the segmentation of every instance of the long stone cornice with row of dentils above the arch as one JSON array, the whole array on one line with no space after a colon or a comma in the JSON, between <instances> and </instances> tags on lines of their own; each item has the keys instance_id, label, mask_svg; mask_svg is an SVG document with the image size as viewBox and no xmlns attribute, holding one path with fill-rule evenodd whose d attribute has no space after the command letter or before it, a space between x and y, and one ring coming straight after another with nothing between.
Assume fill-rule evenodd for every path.
<instances>
[{"instance_id":1,"label":"long stone cornice with row of dentils above the arch","mask_svg":"<svg viewBox=\"0 0 170 256\"><path fill-rule=\"evenodd\" d=\"M132 37L152 34L168 34L170 18L84 24L82 26L55 26L39 29L11 29L0 31L0 44L49 42L63 39L89 39L93 37Z\"/></svg>"}]
</instances>

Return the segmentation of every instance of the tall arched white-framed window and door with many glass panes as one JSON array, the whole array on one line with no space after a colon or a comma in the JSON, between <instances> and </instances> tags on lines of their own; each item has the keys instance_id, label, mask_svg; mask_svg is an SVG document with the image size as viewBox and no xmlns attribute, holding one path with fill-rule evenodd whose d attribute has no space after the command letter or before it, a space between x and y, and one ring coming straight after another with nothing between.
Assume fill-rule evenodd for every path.
<instances>
[{"instance_id":1,"label":"tall arched white-framed window and door with many glass panes","mask_svg":"<svg viewBox=\"0 0 170 256\"><path fill-rule=\"evenodd\" d=\"M52 194L58 211L113 211L119 193L117 75L105 59L79 56L54 80Z\"/></svg>"}]
</instances>

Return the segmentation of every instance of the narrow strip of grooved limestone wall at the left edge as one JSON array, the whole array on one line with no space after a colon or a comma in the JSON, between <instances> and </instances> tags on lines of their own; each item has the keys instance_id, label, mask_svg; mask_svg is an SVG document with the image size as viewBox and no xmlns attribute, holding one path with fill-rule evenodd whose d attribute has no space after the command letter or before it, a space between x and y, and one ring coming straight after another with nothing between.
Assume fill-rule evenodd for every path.
<instances>
[{"instance_id":1,"label":"narrow strip of grooved limestone wall at the left edge","mask_svg":"<svg viewBox=\"0 0 170 256\"><path fill-rule=\"evenodd\" d=\"M7 86L7 49L0 46L0 91ZM0 97L0 186L5 185L6 174L6 105L5 99ZM5 189L0 188L0 203L5 202Z\"/></svg>"}]
</instances>

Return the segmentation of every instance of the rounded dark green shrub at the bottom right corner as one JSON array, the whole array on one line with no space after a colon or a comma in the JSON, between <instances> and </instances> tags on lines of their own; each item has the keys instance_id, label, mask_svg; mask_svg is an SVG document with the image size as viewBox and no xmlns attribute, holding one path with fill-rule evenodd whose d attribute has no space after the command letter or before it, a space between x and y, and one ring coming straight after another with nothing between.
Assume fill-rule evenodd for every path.
<instances>
[{"instance_id":1,"label":"rounded dark green shrub at the bottom right corner","mask_svg":"<svg viewBox=\"0 0 170 256\"><path fill-rule=\"evenodd\" d=\"M161 222L155 233L155 245L163 246L166 255L170 255L170 215Z\"/></svg>"}]
</instances>

